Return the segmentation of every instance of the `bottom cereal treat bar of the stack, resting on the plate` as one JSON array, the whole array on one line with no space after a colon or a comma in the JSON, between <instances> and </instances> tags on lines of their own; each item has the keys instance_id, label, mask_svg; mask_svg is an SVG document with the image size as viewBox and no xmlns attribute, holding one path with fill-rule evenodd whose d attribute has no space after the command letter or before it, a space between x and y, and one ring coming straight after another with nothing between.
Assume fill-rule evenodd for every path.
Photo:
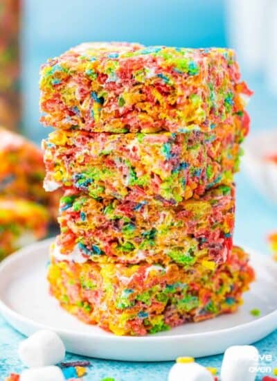
<instances>
[{"instance_id":1,"label":"bottom cereal treat bar of the stack, resting on the plate","mask_svg":"<svg viewBox=\"0 0 277 381\"><path fill-rule=\"evenodd\" d=\"M175 264L70 263L52 258L51 293L63 308L116 335L145 335L189 321L235 312L253 281L248 256L238 247L215 270Z\"/></svg>"}]
</instances>

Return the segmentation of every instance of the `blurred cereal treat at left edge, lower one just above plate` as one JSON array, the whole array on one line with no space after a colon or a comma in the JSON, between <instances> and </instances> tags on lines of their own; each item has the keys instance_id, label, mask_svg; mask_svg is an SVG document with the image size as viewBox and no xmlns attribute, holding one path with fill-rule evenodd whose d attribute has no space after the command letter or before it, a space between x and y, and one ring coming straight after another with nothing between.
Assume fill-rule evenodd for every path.
<instances>
[{"instance_id":1,"label":"blurred cereal treat at left edge, lower one just above plate","mask_svg":"<svg viewBox=\"0 0 277 381\"><path fill-rule=\"evenodd\" d=\"M0 260L44 238L49 215L44 206L23 199L0 197Z\"/></svg>"}]
</instances>

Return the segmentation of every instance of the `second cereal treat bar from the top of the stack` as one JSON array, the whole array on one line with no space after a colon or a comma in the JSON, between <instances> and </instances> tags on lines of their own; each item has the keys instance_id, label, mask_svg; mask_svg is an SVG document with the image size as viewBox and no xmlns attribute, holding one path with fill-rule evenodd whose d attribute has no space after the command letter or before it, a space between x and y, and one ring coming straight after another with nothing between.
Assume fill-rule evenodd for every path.
<instances>
[{"instance_id":1,"label":"second cereal treat bar from the top of the stack","mask_svg":"<svg viewBox=\"0 0 277 381\"><path fill-rule=\"evenodd\" d=\"M91 197L176 204L232 183L241 154L239 130L226 124L186 134L58 130L43 143L44 188L73 186Z\"/></svg>"}]
</instances>

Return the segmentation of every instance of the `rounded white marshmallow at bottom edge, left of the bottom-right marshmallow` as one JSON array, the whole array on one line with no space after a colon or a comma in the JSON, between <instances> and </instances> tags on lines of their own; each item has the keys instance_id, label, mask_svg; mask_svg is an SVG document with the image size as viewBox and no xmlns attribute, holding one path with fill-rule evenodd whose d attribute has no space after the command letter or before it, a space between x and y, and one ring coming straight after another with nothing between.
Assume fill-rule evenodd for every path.
<instances>
[{"instance_id":1,"label":"rounded white marshmallow at bottom edge, left of the bottom-right marshmallow","mask_svg":"<svg viewBox=\"0 0 277 381\"><path fill-rule=\"evenodd\" d=\"M168 381L213 381L213 375L196 362L176 363L170 369Z\"/></svg>"}]
</instances>

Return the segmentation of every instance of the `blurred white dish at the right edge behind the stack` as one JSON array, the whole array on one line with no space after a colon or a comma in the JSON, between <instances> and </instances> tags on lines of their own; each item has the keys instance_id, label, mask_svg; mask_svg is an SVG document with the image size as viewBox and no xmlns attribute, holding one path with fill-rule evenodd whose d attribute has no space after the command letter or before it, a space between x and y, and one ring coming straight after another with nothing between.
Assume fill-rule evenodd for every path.
<instances>
[{"instance_id":1,"label":"blurred white dish at the right edge behind the stack","mask_svg":"<svg viewBox=\"0 0 277 381\"><path fill-rule=\"evenodd\" d=\"M271 154L277 154L277 129L249 136L242 163L256 188L277 204L277 165L265 159Z\"/></svg>"}]
</instances>

